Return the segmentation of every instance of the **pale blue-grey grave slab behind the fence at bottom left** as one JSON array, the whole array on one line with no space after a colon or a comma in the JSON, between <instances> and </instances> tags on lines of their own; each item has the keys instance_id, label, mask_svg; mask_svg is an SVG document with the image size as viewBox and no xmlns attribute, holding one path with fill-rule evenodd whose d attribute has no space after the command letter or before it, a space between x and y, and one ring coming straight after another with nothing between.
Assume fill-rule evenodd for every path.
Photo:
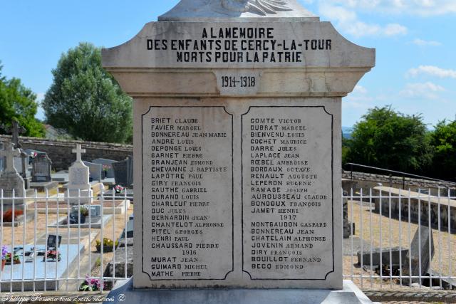
<instances>
[{"instance_id":1,"label":"pale blue-grey grave slab behind the fence at bottom left","mask_svg":"<svg viewBox=\"0 0 456 304\"><path fill-rule=\"evenodd\" d=\"M31 250L31 245L26 246L26 250ZM41 247L45 248L46 245L41 245ZM36 290L44 290L44 285L46 284L47 290L56 290L63 285L64 281L56 281L53 280L55 278L66 278L66 273L68 269L72 269L76 267L78 263L78 253L84 252L85 248L83 244L61 244L58 250L61 253L61 261L47 261L47 263L43 262L43 256L35 256L33 258L34 262L31 263L24 263L24 259L21 256L21 252L19 252L19 257L21 259L20 264L16 265L6 265L4 271L1 274L1 290L10 290L10 283L6 283L6 280L13 280L12 283L13 291L21 291L22 283L23 283L23 268L24 268L24 279L28 280L24 282L24 291L31 291L33 290L33 280ZM68 257L68 268L66 265ZM26 256L26 259L28 257ZM47 264L47 265L46 265ZM46 266L45 266L46 265ZM46 277L45 277L45 267L46 267ZM12 271L12 276L11 276ZM33 276L33 272L35 275ZM45 278L47 281L45 281Z\"/></svg>"}]
</instances>

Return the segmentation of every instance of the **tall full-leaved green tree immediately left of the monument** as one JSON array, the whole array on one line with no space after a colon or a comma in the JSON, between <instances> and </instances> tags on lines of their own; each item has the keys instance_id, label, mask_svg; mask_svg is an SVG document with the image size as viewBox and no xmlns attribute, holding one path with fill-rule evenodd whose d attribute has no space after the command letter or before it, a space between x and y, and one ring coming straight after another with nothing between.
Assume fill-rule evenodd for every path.
<instances>
[{"instance_id":1,"label":"tall full-leaved green tree immediately left of the monument","mask_svg":"<svg viewBox=\"0 0 456 304\"><path fill-rule=\"evenodd\" d=\"M132 99L103 70L100 48L80 43L52 73L43 101L48 124L81 140L131 142Z\"/></svg>"}]
</instances>

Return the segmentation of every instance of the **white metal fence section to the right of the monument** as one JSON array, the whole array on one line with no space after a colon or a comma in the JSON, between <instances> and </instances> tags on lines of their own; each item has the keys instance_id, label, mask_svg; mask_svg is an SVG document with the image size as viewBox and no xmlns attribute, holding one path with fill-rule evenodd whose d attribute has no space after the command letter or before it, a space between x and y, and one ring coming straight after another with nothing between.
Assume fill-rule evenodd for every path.
<instances>
[{"instance_id":1,"label":"white metal fence section to the right of the monument","mask_svg":"<svg viewBox=\"0 0 456 304\"><path fill-rule=\"evenodd\" d=\"M346 221L355 224L344 239L344 278L361 288L455 289L456 197L435 191L343 193Z\"/></svg>"}]
</instances>

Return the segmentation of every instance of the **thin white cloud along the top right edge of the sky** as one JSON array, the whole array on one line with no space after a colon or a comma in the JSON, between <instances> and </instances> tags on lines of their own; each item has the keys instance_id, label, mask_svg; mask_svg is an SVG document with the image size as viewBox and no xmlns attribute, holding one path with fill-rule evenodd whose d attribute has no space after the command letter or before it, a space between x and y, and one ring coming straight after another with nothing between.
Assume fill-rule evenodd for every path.
<instances>
[{"instance_id":1,"label":"thin white cloud along the top right edge of the sky","mask_svg":"<svg viewBox=\"0 0 456 304\"><path fill-rule=\"evenodd\" d=\"M320 4L344 6L348 9L377 14L439 16L456 13L455 0L319 0Z\"/></svg>"}]
</instances>

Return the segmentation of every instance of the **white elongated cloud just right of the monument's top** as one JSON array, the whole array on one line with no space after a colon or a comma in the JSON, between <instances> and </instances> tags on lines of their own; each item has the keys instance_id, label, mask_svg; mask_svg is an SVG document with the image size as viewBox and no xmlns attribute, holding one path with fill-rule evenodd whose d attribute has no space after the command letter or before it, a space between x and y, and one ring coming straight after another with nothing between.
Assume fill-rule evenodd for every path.
<instances>
[{"instance_id":1,"label":"white elongated cloud just right of the monument's top","mask_svg":"<svg viewBox=\"0 0 456 304\"><path fill-rule=\"evenodd\" d=\"M336 21L338 28L356 37L363 36L398 36L405 35L408 29L398 23L389 23L380 26L375 23L365 23L358 19L355 11L346 9L343 6L335 6L323 3L319 7L320 14Z\"/></svg>"}]
</instances>

